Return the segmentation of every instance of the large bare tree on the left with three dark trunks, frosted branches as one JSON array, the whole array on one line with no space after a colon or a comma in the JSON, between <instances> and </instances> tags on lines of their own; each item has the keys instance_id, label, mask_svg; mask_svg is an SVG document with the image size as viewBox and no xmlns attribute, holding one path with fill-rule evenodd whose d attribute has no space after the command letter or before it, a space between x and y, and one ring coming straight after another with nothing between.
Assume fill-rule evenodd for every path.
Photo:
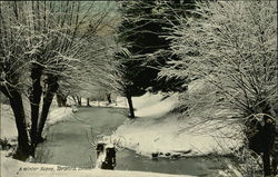
<instances>
[{"instance_id":1,"label":"large bare tree on the left with three dark trunks, frosted branches","mask_svg":"<svg viewBox=\"0 0 278 177\"><path fill-rule=\"evenodd\" d=\"M30 99L30 137L34 148L42 140L59 80L76 77L76 66L90 59L87 50L109 12L96 10L95 3L1 2L1 91L9 97L17 117L19 149L24 154L29 151L29 142L21 95L27 94Z\"/></svg>"}]
</instances>

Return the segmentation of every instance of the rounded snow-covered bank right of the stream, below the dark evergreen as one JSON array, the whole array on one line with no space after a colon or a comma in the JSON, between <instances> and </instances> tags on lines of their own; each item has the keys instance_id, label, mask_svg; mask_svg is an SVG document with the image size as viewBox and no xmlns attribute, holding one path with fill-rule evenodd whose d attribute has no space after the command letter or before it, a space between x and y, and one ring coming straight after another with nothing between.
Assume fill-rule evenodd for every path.
<instances>
[{"instance_id":1,"label":"rounded snow-covered bank right of the stream, below the dark evergreen","mask_svg":"<svg viewBox=\"0 0 278 177\"><path fill-rule=\"evenodd\" d=\"M178 114L170 112L176 102L177 95L163 99L161 92L133 98L139 118L127 120L112 139L121 139L123 146L145 156L153 153L168 157L222 155L240 147L242 139L235 138L238 127L217 121L191 126L178 119Z\"/></svg>"}]
</instances>

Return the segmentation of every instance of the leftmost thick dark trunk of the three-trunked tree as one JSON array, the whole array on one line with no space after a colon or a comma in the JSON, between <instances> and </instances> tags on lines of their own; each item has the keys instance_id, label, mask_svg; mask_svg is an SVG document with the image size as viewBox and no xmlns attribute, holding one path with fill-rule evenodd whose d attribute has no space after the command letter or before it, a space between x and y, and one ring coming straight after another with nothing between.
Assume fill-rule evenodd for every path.
<instances>
[{"instance_id":1,"label":"leftmost thick dark trunk of the three-trunked tree","mask_svg":"<svg viewBox=\"0 0 278 177\"><path fill-rule=\"evenodd\" d=\"M24 159L30 154L30 146L28 139L28 130L26 125L26 115L21 95L17 90L10 91L10 105L16 118L18 129L18 150L16 154L17 159Z\"/></svg>"}]
</instances>

